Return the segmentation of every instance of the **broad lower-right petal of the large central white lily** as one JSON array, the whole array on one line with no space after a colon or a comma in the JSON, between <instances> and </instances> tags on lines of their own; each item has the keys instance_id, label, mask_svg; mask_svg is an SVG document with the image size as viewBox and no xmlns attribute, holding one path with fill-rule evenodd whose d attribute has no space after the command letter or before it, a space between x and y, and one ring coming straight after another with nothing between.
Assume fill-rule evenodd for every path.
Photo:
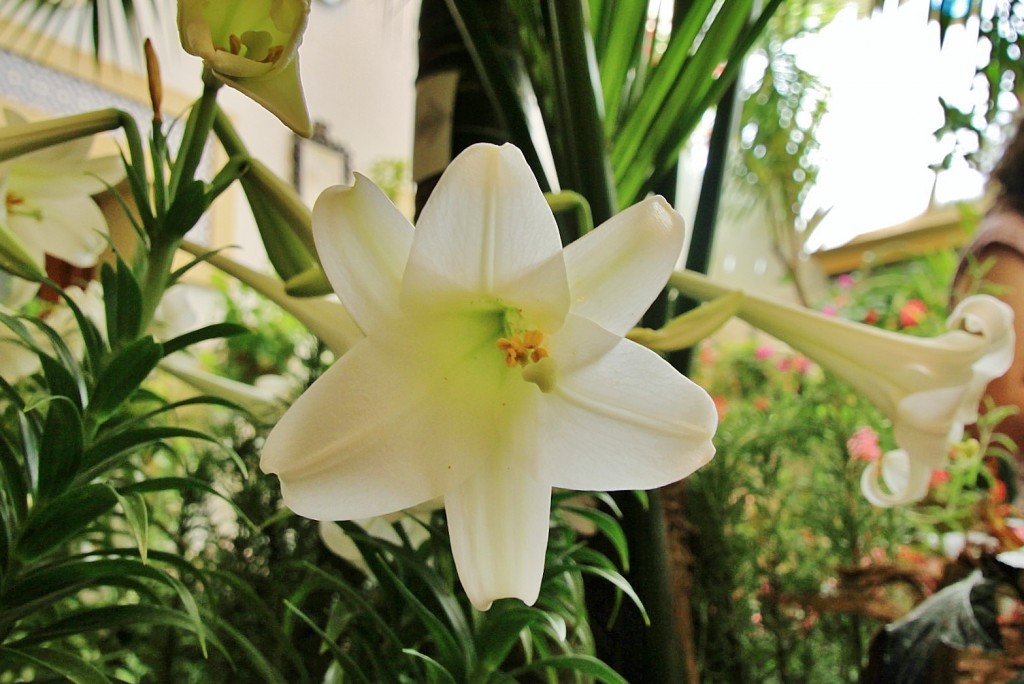
<instances>
[{"instance_id":1,"label":"broad lower-right petal of the large central white lily","mask_svg":"<svg viewBox=\"0 0 1024 684\"><path fill-rule=\"evenodd\" d=\"M566 319L563 336L617 339L575 316ZM560 358L554 343L552 355ZM618 340L592 362L559 365L557 373L534 416L542 480L566 489L651 489L715 455L714 401L653 351Z\"/></svg>"}]
</instances>

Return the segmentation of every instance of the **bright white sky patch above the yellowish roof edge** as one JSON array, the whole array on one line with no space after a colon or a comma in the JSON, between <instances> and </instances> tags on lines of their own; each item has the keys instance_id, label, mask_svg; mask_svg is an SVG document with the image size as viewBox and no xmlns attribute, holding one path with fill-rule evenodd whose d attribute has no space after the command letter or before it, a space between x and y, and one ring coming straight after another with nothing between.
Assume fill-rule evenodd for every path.
<instances>
[{"instance_id":1,"label":"bright white sky patch above the yellowish roof edge","mask_svg":"<svg viewBox=\"0 0 1024 684\"><path fill-rule=\"evenodd\" d=\"M859 20L850 8L794 48L803 68L831 87L818 131L818 186L805 206L808 214L833 210L809 251L923 213L933 184L940 205L981 194L982 177L967 168L942 174L937 184L928 168L942 157L932 135L942 124L939 95L968 96L977 28L952 29L940 52L938 27L925 20L928 0L895 4Z\"/></svg>"}]
</instances>

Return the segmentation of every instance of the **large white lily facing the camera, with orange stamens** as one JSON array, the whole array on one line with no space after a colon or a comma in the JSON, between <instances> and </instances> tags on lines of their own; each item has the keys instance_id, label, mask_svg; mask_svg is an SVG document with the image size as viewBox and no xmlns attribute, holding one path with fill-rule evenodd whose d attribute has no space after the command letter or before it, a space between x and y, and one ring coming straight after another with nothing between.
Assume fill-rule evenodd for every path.
<instances>
[{"instance_id":1,"label":"large white lily facing the camera, with orange stamens","mask_svg":"<svg viewBox=\"0 0 1024 684\"><path fill-rule=\"evenodd\" d=\"M267 438L260 465L296 513L352 520L443 497L473 604L531 604L553 486L652 488L712 458L711 397L623 338L682 247L660 198L562 250L522 154L478 144L415 231L359 176L321 196L313 237L366 338Z\"/></svg>"}]
</instances>

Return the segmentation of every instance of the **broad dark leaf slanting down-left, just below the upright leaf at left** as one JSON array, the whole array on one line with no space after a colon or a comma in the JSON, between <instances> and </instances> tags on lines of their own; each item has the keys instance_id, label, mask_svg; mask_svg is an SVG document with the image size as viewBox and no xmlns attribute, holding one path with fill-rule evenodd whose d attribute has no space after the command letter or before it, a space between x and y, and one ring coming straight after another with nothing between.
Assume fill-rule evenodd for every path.
<instances>
[{"instance_id":1,"label":"broad dark leaf slanting down-left, just below the upright leaf at left","mask_svg":"<svg viewBox=\"0 0 1024 684\"><path fill-rule=\"evenodd\" d=\"M42 556L76 537L117 501L111 487L87 484L37 505L18 537L15 557L29 561Z\"/></svg>"}]
</instances>

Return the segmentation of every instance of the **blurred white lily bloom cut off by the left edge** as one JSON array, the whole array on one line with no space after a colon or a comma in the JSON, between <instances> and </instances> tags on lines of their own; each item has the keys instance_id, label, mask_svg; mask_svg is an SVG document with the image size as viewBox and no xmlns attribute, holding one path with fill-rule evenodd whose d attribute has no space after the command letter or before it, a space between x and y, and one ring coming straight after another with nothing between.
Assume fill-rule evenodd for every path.
<instances>
[{"instance_id":1,"label":"blurred white lily bloom cut off by the left edge","mask_svg":"<svg viewBox=\"0 0 1024 684\"><path fill-rule=\"evenodd\" d=\"M5 125L25 119L4 112ZM125 176L119 157L89 157L91 138L44 147L0 164L0 195L7 227L26 252L43 263L50 254L88 268L108 247L106 219L93 195Z\"/></svg>"}]
</instances>

